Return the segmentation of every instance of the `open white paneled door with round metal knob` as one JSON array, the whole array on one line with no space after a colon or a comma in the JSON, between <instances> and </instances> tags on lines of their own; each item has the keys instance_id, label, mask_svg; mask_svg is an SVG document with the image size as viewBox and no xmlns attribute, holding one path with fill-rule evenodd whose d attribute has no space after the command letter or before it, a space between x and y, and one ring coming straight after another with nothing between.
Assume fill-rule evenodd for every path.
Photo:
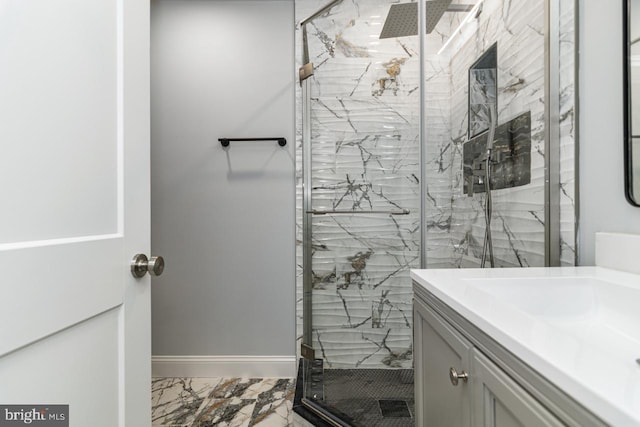
<instances>
[{"instance_id":1,"label":"open white paneled door with round metal knob","mask_svg":"<svg viewBox=\"0 0 640 427\"><path fill-rule=\"evenodd\" d=\"M151 424L149 240L149 0L0 0L0 405Z\"/></svg>"}]
</instances>

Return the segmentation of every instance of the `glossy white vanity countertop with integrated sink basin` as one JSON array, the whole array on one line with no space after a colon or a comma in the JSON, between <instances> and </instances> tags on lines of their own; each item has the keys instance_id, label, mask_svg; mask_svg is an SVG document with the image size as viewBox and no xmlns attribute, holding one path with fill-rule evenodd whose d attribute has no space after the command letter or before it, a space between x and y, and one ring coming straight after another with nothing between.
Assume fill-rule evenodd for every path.
<instances>
[{"instance_id":1,"label":"glossy white vanity countertop with integrated sink basin","mask_svg":"<svg viewBox=\"0 0 640 427\"><path fill-rule=\"evenodd\" d=\"M412 270L423 287L613 426L640 426L640 275Z\"/></svg>"}]
</instances>

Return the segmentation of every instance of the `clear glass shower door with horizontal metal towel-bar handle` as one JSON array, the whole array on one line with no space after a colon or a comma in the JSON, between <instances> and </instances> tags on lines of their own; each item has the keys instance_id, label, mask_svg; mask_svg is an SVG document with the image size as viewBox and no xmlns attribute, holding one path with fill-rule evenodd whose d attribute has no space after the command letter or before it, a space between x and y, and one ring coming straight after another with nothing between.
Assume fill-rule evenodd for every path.
<instances>
[{"instance_id":1,"label":"clear glass shower door with horizontal metal towel-bar handle","mask_svg":"<svg viewBox=\"0 0 640 427\"><path fill-rule=\"evenodd\" d=\"M413 425L418 40L378 39L389 5L345 2L313 21L302 95L306 397L357 425Z\"/></svg>"}]
</instances>

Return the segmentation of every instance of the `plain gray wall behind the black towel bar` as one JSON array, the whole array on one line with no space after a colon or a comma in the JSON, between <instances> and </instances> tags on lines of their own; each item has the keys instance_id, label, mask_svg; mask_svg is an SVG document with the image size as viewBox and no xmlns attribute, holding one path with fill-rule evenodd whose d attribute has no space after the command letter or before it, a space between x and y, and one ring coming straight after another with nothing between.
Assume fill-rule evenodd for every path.
<instances>
[{"instance_id":1,"label":"plain gray wall behind the black towel bar","mask_svg":"<svg viewBox=\"0 0 640 427\"><path fill-rule=\"evenodd\" d=\"M154 355L295 355L292 0L152 1ZM232 143L219 137L284 136Z\"/></svg>"}]
</instances>

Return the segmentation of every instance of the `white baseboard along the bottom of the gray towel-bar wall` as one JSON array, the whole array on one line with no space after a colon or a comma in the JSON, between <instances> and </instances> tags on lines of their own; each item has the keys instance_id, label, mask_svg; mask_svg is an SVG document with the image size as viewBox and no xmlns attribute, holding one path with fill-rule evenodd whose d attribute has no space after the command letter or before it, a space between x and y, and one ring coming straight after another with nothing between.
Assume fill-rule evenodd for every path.
<instances>
[{"instance_id":1,"label":"white baseboard along the bottom of the gray towel-bar wall","mask_svg":"<svg viewBox=\"0 0 640 427\"><path fill-rule=\"evenodd\" d=\"M295 378L296 356L152 356L154 377Z\"/></svg>"}]
</instances>

